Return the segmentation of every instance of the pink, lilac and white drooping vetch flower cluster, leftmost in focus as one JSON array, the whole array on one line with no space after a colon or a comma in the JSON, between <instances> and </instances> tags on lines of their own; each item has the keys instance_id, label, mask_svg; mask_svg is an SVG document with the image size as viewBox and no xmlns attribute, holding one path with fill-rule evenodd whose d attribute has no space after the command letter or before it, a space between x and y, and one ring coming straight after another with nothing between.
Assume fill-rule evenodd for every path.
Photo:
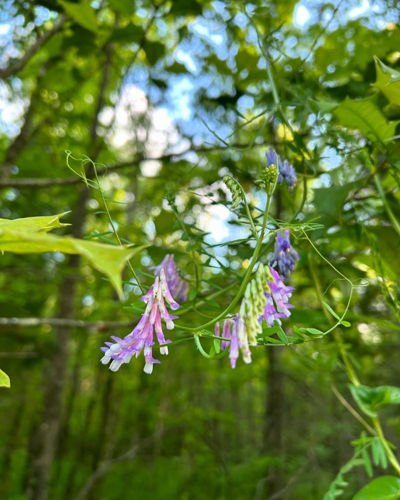
<instances>
[{"instance_id":1,"label":"pink, lilac and white drooping vetch flower cluster, leftmost in focus","mask_svg":"<svg viewBox=\"0 0 400 500\"><path fill-rule=\"evenodd\" d=\"M133 330L123 339L111 336L115 343L105 342L106 347L101 347L101 350L104 352L101 362L107 364L112 359L109 365L109 369L112 371L116 371L122 363L128 363L133 355L137 357L143 350L145 359L143 371L151 373L153 364L160 362L158 359L152 357L154 331L159 344L171 341L165 340L161 319L165 321L166 328L171 330L174 327L173 319L176 319L178 316L172 316L168 313L165 307L165 300L172 310L177 309L179 304L173 299L169 291L163 268L159 270L154 283L141 299L147 305ZM160 354L168 354L168 347L166 345L160 347L159 352Z\"/></svg>"}]
</instances>

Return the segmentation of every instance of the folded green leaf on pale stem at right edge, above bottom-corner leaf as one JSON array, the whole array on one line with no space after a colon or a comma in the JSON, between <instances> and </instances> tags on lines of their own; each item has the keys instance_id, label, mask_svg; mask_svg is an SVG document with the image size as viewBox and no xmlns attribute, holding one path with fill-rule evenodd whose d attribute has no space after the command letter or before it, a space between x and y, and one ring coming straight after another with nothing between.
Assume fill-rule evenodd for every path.
<instances>
[{"instance_id":1,"label":"folded green leaf on pale stem at right edge, above bottom-corner leaf","mask_svg":"<svg viewBox=\"0 0 400 500\"><path fill-rule=\"evenodd\" d=\"M368 387L349 384L351 395L358 407L368 416L377 416L377 408L383 404L400 404L400 388L391 385Z\"/></svg>"}]
</instances>

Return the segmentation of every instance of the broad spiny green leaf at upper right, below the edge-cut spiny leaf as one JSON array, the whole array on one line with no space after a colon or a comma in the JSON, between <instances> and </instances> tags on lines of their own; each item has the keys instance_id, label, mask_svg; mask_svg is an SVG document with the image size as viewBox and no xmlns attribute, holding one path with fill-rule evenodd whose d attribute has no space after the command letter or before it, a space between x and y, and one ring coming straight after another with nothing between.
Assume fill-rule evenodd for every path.
<instances>
[{"instance_id":1,"label":"broad spiny green leaf at upper right, below the edge-cut spiny leaf","mask_svg":"<svg viewBox=\"0 0 400 500\"><path fill-rule=\"evenodd\" d=\"M376 105L375 96L362 100L346 97L333 111L339 123L358 129L370 140L386 140L394 135L397 121L389 123Z\"/></svg>"}]
</instances>

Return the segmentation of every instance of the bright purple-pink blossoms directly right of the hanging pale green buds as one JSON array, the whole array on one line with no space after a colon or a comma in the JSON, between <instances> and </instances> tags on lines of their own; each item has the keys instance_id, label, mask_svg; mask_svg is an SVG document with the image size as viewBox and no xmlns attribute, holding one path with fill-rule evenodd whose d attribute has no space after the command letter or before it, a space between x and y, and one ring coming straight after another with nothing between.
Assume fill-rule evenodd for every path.
<instances>
[{"instance_id":1,"label":"bright purple-pink blossoms directly right of the hanging pale green buds","mask_svg":"<svg viewBox=\"0 0 400 500\"><path fill-rule=\"evenodd\" d=\"M294 305L290 304L289 300L294 287L286 286L275 269L269 267L269 270L273 278L273 281L268 282L271 292L265 293L266 304L260 319L265 319L268 326L273 326L274 320L281 324L280 318L290 316L289 309Z\"/></svg>"}]
</instances>

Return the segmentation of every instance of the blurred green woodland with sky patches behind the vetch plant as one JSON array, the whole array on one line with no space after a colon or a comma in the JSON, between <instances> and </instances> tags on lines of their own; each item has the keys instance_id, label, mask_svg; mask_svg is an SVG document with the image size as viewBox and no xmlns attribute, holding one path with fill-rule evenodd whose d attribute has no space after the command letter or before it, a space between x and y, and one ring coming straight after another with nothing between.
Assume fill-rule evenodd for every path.
<instances>
[{"instance_id":1,"label":"blurred green woodland with sky patches behind the vetch plant","mask_svg":"<svg viewBox=\"0 0 400 500\"><path fill-rule=\"evenodd\" d=\"M265 198L253 180L272 145L298 182L292 193L279 187L271 214L318 217L307 234L326 259L293 231L300 260L286 334L331 327L321 298L343 313L349 286L329 262L360 286L350 327L257 347L250 365L231 370L183 342L151 376L140 359L112 373L99 347L137 322L129 269L121 303L75 255L5 252L0 363L11 388L0 396L0 498L395 498L382 441L359 437L348 411L379 415L398 444L397 406L383 404L399 390L398 10L368 5L2 3L0 223L70 210L71 225L54 234L116 245L105 200L122 243L150 243L131 258L144 287L148 266L175 254L194 290L179 321L196 326L229 303L252 253L244 208L228 211L221 178L240 181L256 218ZM102 190L68 169L65 151L98 163ZM272 249L270 240L264 263ZM361 388L348 387L340 348Z\"/></svg>"}]
</instances>

